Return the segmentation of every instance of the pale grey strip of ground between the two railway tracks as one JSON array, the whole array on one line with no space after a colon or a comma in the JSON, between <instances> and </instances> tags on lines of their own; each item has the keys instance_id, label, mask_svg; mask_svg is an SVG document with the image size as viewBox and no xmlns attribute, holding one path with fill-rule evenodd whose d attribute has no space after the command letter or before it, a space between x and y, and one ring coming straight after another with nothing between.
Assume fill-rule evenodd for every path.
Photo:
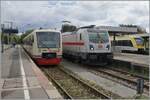
<instances>
[{"instance_id":1,"label":"pale grey strip of ground between the two railway tracks","mask_svg":"<svg viewBox=\"0 0 150 100\"><path fill-rule=\"evenodd\" d=\"M82 67L82 65L78 65L75 63L71 63L67 60L63 60L62 66L78 74L83 79L94 82L97 85L103 87L104 89L112 91L113 93L116 93L124 98L132 98L136 95L135 90L125 87L121 84L115 83L111 80L97 76L89 72L85 67Z\"/></svg>"}]
</instances>

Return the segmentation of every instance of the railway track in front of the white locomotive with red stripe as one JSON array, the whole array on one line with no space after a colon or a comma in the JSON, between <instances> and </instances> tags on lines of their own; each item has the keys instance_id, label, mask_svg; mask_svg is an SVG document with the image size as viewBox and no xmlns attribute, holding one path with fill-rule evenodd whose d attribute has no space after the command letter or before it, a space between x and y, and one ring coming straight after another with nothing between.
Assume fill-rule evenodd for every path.
<instances>
[{"instance_id":1,"label":"railway track in front of the white locomotive with red stripe","mask_svg":"<svg viewBox=\"0 0 150 100\"><path fill-rule=\"evenodd\" d=\"M137 79L141 78L136 75L127 74L125 72L113 70L111 68L90 68L89 71L94 74L100 75L101 77L110 79L117 83L121 83L132 89L137 88ZM144 79L144 93L149 93L149 80L147 79Z\"/></svg>"}]
</instances>

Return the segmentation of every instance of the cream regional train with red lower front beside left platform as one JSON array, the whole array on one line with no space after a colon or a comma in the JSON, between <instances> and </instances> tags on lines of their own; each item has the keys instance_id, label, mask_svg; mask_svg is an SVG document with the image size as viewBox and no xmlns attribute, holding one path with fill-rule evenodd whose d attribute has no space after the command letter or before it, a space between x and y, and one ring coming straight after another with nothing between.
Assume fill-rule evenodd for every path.
<instances>
[{"instance_id":1,"label":"cream regional train with red lower front beside left platform","mask_svg":"<svg viewBox=\"0 0 150 100\"><path fill-rule=\"evenodd\" d=\"M58 65L62 57L61 38L56 30L35 30L23 39L23 47L37 64Z\"/></svg>"}]
</instances>

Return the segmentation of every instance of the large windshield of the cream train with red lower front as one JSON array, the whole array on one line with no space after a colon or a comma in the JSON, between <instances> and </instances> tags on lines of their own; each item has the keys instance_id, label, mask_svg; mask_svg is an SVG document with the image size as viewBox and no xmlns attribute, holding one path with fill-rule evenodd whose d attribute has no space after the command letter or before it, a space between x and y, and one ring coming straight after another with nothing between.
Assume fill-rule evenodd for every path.
<instances>
[{"instance_id":1,"label":"large windshield of the cream train with red lower front","mask_svg":"<svg viewBox=\"0 0 150 100\"><path fill-rule=\"evenodd\" d=\"M39 48L58 48L60 45L60 34L58 32L37 32L37 43Z\"/></svg>"}]
</instances>

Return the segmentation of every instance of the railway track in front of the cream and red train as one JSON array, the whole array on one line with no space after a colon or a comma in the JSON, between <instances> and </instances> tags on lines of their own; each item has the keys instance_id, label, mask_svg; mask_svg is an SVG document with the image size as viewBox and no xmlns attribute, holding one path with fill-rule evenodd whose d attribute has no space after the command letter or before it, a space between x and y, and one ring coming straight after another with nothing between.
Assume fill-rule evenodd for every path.
<instances>
[{"instance_id":1,"label":"railway track in front of the cream and red train","mask_svg":"<svg viewBox=\"0 0 150 100\"><path fill-rule=\"evenodd\" d=\"M44 73L63 92L65 99L110 99L111 97L60 67L42 67Z\"/></svg>"}]
</instances>

